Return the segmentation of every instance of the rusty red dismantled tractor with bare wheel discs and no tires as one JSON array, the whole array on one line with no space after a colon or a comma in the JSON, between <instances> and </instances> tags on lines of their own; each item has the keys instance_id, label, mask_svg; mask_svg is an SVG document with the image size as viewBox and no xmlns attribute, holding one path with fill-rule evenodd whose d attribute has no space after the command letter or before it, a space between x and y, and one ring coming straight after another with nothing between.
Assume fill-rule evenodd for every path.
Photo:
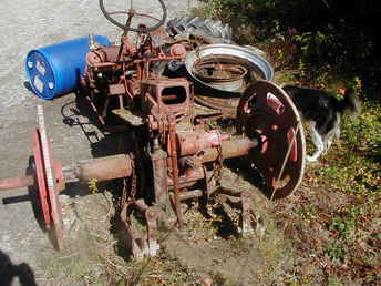
<instances>
[{"instance_id":1,"label":"rusty red dismantled tractor with bare wheel discs and no tires","mask_svg":"<svg viewBox=\"0 0 381 286\"><path fill-rule=\"evenodd\" d=\"M59 193L78 181L126 182L119 215L135 258L156 255L158 229L183 227L181 204L186 200L207 204L218 194L236 197L239 229L250 232L250 193L220 186L224 161L245 157L271 200L290 195L305 170L300 118L287 94L271 83L270 65L255 49L224 39L224 27L217 35L205 35L189 31L194 19L187 18L169 21L165 30L162 0L161 19L134 9L110 12L105 2L100 0L101 10L123 29L121 41L103 45L90 35L78 96L105 130L121 134L121 153L62 166L53 161L39 106L34 175L2 180L0 190L37 187L45 227L54 231L59 249L64 245ZM133 27L137 18L156 23ZM224 116L234 118L234 134L209 124ZM134 215L145 219L146 232L135 226Z\"/></svg>"}]
</instances>

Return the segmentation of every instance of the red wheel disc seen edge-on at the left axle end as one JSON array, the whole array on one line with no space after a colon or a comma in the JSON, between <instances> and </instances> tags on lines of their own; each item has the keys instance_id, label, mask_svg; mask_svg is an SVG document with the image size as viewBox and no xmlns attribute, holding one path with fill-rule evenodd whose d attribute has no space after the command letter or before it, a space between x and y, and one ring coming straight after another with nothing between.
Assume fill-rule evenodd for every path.
<instances>
[{"instance_id":1,"label":"red wheel disc seen edge-on at the left axle end","mask_svg":"<svg viewBox=\"0 0 381 286\"><path fill-rule=\"evenodd\" d=\"M62 185L62 167L52 162L41 105L38 106L38 119L40 127L33 131L34 182L39 193L45 227L49 229L53 225L56 247L62 249L63 224L59 196Z\"/></svg>"}]
</instances>

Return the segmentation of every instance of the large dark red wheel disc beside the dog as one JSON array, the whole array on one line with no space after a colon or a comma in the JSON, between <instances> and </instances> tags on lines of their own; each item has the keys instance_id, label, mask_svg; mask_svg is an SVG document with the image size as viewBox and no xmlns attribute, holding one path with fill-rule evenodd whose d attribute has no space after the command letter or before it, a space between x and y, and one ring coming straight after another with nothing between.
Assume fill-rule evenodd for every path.
<instances>
[{"instance_id":1,"label":"large dark red wheel disc beside the dog","mask_svg":"<svg viewBox=\"0 0 381 286\"><path fill-rule=\"evenodd\" d=\"M249 85L237 109L238 132L259 139L250 160L262 175L271 198L290 195L300 184L306 164L306 141L299 113L277 85Z\"/></svg>"}]
</instances>

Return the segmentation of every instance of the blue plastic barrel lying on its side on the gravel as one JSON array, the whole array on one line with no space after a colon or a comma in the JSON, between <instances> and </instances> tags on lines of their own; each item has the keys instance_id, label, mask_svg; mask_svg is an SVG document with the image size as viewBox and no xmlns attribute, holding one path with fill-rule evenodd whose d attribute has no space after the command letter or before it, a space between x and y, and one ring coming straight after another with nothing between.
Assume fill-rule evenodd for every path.
<instances>
[{"instance_id":1,"label":"blue plastic barrel lying on its side on the gravel","mask_svg":"<svg viewBox=\"0 0 381 286\"><path fill-rule=\"evenodd\" d=\"M94 40L110 45L109 39L103 35L95 35ZM25 72L34 93L51 100L78 89L87 52L87 37L31 50L27 55Z\"/></svg>"}]
</instances>

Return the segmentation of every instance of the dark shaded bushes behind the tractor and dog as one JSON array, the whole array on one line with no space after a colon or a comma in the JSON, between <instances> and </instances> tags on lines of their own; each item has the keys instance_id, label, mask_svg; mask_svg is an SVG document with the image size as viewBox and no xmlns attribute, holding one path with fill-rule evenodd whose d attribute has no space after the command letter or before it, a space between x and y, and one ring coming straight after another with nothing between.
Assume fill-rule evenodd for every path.
<instances>
[{"instance_id":1,"label":"dark shaded bushes behind the tractor and dog","mask_svg":"<svg viewBox=\"0 0 381 286\"><path fill-rule=\"evenodd\" d=\"M363 95L380 91L380 61L373 58L371 25L380 11L362 2L307 0L210 0L203 16L234 29L234 40L268 52L276 70L298 69L296 80L327 83L360 78Z\"/></svg>"}]
</instances>

